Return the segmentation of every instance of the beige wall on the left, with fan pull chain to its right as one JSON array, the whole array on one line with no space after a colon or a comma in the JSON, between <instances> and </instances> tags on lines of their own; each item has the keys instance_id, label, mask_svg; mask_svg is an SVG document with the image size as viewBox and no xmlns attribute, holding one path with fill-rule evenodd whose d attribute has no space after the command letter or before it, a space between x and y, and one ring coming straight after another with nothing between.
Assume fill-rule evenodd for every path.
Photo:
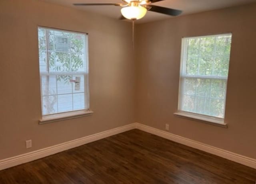
<instances>
[{"instance_id":1,"label":"beige wall on the left, with fan pull chain to its right","mask_svg":"<svg viewBox=\"0 0 256 184\"><path fill-rule=\"evenodd\" d=\"M89 33L93 115L38 125L38 25ZM128 22L38 0L0 0L0 160L134 123L131 29Z\"/></svg>"}]
</instances>

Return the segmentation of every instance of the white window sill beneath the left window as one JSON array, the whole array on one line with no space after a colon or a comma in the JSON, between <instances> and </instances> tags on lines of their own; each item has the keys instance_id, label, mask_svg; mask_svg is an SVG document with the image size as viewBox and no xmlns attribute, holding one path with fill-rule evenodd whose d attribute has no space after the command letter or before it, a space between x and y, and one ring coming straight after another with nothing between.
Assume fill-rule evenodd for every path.
<instances>
[{"instance_id":1,"label":"white window sill beneath the left window","mask_svg":"<svg viewBox=\"0 0 256 184\"><path fill-rule=\"evenodd\" d=\"M92 115L92 111L74 111L74 112L64 112L59 114L52 114L52 115L44 115L42 119L39 120L39 124L45 124L45 123L52 123L56 121L62 121L66 119L74 119L78 117L84 117L87 115Z\"/></svg>"}]
</instances>

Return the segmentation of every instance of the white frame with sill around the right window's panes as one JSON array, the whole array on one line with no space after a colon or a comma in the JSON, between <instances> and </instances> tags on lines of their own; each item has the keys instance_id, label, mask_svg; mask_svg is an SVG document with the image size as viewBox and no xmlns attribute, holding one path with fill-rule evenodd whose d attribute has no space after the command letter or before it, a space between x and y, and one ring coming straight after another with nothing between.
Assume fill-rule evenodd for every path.
<instances>
[{"instance_id":1,"label":"white frame with sill around the right window's panes","mask_svg":"<svg viewBox=\"0 0 256 184\"><path fill-rule=\"evenodd\" d=\"M224 34L214 34L214 35L205 35L205 36L198 36L198 37L183 37L182 38L182 47L181 47L181 57L180 57L180 78L179 78L179 94L178 94L178 112L175 112L174 115L177 117L182 117L186 119L191 119L195 121L200 121L204 123L209 123L212 125L217 125L220 127L228 127L227 123L224 122L224 118L218 118L218 117L213 117L209 115L203 115L203 114L197 114L197 113L192 113L192 112L186 112L182 110L182 100L183 100L183 95L181 92L183 91L184 87L184 79L185 78L204 78L204 79L219 79L219 80L226 80L228 81L228 76L227 77L207 77L207 76L196 76L196 75L183 75L184 72L184 65L186 65L186 62L184 60L186 59L185 53L186 51L186 41L188 41L189 38L200 38L200 37L207 37L207 36L218 36L218 35L228 35L232 33L224 33ZM225 94L225 101L224 101L224 114L226 110L226 94Z\"/></svg>"}]
</instances>

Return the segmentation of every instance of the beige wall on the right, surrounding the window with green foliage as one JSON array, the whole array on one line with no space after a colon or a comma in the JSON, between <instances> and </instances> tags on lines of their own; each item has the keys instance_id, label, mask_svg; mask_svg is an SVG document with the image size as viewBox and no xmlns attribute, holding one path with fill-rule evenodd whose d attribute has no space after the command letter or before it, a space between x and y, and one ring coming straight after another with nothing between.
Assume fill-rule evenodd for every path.
<instances>
[{"instance_id":1,"label":"beige wall on the right, surrounding the window with green foliage","mask_svg":"<svg viewBox=\"0 0 256 184\"><path fill-rule=\"evenodd\" d=\"M256 159L256 4L137 27L136 121ZM182 37L232 32L228 129L175 117Z\"/></svg>"}]
</instances>

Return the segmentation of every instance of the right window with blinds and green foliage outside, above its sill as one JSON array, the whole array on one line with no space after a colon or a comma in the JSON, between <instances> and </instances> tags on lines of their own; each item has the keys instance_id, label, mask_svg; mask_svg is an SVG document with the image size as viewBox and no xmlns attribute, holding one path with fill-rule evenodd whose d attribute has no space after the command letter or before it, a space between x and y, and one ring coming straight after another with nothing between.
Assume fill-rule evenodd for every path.
<instances>
[{"instance_id":1,"label":"right window with blinds and green foliage outside, above its sill","mask_svg":"<svg viewBox=\"0 0 256 184\"><path fill-rule=\"evenodd\" d=\"M224 123L231 39L232 34L182 39L179 112Z\"/></svg>"}]
</instances>

